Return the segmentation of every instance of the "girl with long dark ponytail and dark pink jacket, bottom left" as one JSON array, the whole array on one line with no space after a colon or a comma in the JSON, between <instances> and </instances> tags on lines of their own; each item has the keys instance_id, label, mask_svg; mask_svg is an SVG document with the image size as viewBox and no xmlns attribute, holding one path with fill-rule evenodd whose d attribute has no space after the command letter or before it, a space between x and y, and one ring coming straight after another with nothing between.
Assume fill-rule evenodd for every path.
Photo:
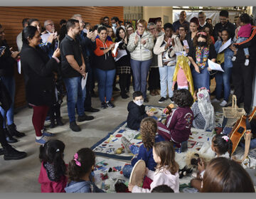
<instances>
[{"instance_id":1,"label":"girl with long dark ponytail and dark pink jacket, bottom left","mask_svg":"<svg viewBox=\"0 0 256 199\"><path fill-rule=\"evenodd\" d=\"M40 146L41 171L38 182L41 183L41 193L65 192L68 178L65 176L64 149L65 144L59 140L50 140Z\"/></svg>"}]
</instances>

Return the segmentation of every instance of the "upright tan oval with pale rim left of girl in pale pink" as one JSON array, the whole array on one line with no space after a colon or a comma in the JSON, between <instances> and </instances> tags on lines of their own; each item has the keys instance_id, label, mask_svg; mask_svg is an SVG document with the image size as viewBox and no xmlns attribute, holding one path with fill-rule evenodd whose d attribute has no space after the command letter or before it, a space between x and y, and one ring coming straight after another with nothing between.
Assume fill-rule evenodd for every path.
<instances>
[{"instance_id":1,"label":"upright tan oval with pale rim left of girl in pale pink","mask_svg":"<svg viewBox=\"0 0 256 199\"><path fill-rule=\"evenodd\" d=\"M129 183L132 185L141 185L145 176L146 163L143 160L137 161L132 168Z\"/></svg>"}]
</instances>

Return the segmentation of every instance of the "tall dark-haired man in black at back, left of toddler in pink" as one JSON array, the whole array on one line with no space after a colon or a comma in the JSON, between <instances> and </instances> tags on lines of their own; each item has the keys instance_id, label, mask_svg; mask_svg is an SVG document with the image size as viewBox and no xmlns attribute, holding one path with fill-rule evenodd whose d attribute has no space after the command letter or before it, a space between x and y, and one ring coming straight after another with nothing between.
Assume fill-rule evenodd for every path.
<instances>
[{"instance_id":1,"label":"tall dark-haired man in black at back, left of toddler in pink","mask_svg":"<svg viewBox=\"0 0 256 199\"><path fill-rule=\"evenodd\" d=\"M216 23L213 31L214 40L218 40L218 31L228 29L230 31L230 38L235 36L235 25L228 21L228 11L220 11L220 23Z\"/></svg>"}]
</instances>

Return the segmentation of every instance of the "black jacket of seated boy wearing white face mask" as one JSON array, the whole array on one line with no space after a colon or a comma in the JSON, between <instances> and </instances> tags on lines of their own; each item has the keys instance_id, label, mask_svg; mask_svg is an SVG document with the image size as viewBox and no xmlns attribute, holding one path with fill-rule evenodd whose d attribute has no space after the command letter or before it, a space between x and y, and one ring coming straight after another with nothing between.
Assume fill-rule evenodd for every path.
<instances>
[{"instance_id":1,"label":"black jacket of seated boy wearing white face mask","mask_svg":"<svg viewBox=\"0 0 256 199\"><path fill-rule=\"evenodd\" d=\"M145 112L145 106L138 106L133 101L129 102L128 107L127 125L130 129L138 130L142 119L148 117Z\"/></svg>"}]
</instances>

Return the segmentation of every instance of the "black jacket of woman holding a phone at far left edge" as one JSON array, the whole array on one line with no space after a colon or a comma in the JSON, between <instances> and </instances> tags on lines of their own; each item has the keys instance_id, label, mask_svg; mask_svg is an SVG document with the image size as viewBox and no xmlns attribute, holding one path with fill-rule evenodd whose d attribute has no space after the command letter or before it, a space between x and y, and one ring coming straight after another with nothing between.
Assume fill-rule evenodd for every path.
<instances>
[{"instance_id":1,"label":"black jacket of woman holding a phone at far left edge","mask_svg":"<svg viewBox=\"0 0 256 199\"><path fill-rule=\"evenodd\" d=\"M0 76L14 76L14 64L16 60L11 57L11 51L6 40L0 41L0 46L6 46L5 53L0 57Z\"/></svg>"}]
</instances>

